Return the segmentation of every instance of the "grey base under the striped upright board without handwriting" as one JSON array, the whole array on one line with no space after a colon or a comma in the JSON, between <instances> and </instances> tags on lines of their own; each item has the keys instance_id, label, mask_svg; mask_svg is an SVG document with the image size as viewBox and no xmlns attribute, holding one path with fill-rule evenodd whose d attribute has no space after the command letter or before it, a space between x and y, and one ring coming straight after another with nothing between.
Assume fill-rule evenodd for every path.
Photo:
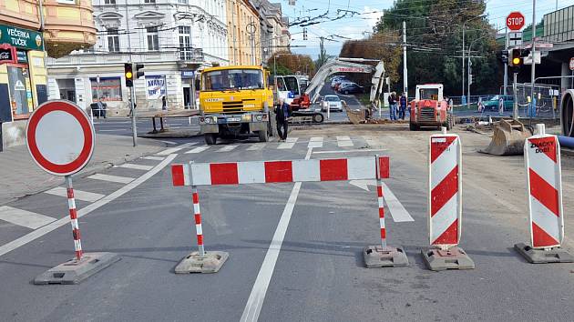
<instances>
[{"instance_id":1,"label":"grey base under the striped upright board without handwriting","mask_svg":"<svg viewBox=\"0 0 574 322\"><path fill-rule=\"evenodd\" d=\"M475 262L460 247L450 247L447 250L430 248L423 249L421 252L423 259L425 259L426 267L430 270L475 268Z\"/></svg>"}]
</instances>

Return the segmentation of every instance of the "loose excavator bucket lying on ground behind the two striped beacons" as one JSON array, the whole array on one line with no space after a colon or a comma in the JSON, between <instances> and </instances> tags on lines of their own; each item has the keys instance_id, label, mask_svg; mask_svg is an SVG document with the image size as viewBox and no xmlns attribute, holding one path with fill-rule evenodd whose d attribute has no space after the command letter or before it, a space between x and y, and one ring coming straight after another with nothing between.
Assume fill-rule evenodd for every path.
<instances>
[{"instance_id":1,"label":"loose excavator bucket lying on ground behind the two striped beacons","mask_svg":"<svg viewBox=\"0 0 574 322\"><path fill-rule=\"evenodd\" d=\"M483 151L495 156L518 156L524 153L524 140L532 136L517 120L501 119L495 124L490 145Z\"/></svg>"}]
</instances>

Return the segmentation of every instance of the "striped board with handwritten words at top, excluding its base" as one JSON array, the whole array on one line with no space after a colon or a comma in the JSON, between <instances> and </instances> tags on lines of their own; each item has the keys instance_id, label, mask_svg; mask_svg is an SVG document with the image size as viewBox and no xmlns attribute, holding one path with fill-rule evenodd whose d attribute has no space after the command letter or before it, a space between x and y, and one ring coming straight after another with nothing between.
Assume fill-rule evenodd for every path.
<instances>
[{"instance_id":1,"label":"striped board with handwritten words at top, excluding its base","mask_svg":"<svg viewBox=\"0 0 574 322\"><path fill-rule=\"evenodd\" d=\"M564 236L559 143L536 136L525 143L532 247L556 247Z\"/></svg>"}]
</instances>

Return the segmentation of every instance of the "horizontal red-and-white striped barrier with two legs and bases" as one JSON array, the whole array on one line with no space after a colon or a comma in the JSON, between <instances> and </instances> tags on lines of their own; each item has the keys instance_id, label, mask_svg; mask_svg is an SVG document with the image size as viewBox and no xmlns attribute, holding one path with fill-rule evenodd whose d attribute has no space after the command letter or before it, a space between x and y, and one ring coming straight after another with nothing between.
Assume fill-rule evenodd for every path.
<instances>
[{"instance_id":1,"label":"horizontal red-and-white striped barrier with two legs and bases","mask_svg":"<svg viewBox=\"0 0 574 322\"><path fill-rule=\"evenodd\" d=\"M364 156L338 159L289 161L251 161L229 163L193 163L172 165L173 186L191 186L193 212L199 251L191 253L176 267L176 273L215 273L229 257L225 252L204 249L197 186L248 185L294 182L323 182L377 179L381 246L364 249L367 267L408 265L401 247L386 246L384 200L381 179L389 177L388 156Z\"/></svg>"}]
</instances>

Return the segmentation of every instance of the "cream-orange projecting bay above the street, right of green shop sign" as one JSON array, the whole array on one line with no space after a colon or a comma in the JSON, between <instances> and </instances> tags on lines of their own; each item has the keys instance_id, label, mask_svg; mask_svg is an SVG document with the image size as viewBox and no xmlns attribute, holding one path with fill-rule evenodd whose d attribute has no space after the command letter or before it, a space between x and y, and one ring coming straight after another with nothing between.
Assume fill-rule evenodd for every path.
<instances>
[{"instance_id":1,"label":"cream-orange projecting bay above the street, right of green shop sign","mask_svg":"<svg viewBox=\"0 0 574 322\"><path fill-rule=\"evenodd\" d=\"M90 0L45 0L44 38L47 55L58 58L73 50L88 48L97 41Z\"/></svg>"}]
</instances>

